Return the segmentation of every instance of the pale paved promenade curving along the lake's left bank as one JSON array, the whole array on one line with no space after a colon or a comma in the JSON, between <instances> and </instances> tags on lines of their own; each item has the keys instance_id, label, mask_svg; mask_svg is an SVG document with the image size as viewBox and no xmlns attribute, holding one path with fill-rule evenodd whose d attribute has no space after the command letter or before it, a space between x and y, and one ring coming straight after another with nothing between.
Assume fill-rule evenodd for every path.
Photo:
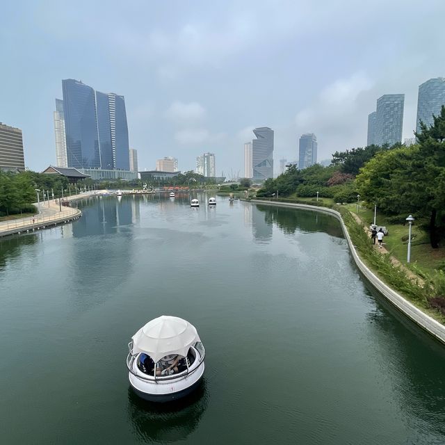
<instances>
[{"instance_id":1,"label":"pale paved promenade curving along the lake's left bank","mask_svg":"<svg viewBox=\"0 0 445 445\"><path fill-rule=\"evenodd\" d=\"M67 201L80 200L84 197L94 195L94 192L81 193L80 195L72 195L65 197ZM39 213L35 216L19 218L16 220L8 220L0 222L0 236L12 234L20 234L22 232L33 232L34 230L46 229L58 224L67 223L79 218L82 212L75 207L60 206L58 199L34 203Z\"/></svg>"}]
</instances>

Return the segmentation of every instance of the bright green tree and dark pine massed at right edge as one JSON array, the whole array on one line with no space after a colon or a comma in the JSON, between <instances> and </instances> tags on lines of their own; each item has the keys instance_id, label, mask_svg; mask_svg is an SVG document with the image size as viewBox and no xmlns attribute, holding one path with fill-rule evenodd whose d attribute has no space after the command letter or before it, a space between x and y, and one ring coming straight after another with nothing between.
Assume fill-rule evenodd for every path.
<instances>
[{"instance_id":1,"label":"bright green tree and dark pine massed at right edge","mask_svg":"<svg viewBox=\"0 0 445 445\"><path fill-rule=\"evenodd\" d=\"M433 248L445 234L445 108L418 144L378 153L360 170L357 188L366 200L403 222L412 213L426 226Z\"/></svg>"}]
</instances>

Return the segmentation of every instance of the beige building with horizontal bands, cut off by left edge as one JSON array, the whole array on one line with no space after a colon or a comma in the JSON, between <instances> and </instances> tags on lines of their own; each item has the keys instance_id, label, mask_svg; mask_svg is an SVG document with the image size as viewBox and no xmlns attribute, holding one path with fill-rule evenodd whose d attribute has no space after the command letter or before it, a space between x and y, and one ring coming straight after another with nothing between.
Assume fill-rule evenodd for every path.
<instances>
[{"instance_id":1,"label":"beige building with horizontal bands, cut off by left edge","mask_svg":"<svg viewBox=\"0 0 445 445\"><path fill-rule=\"evenodd\" d=\"M24 170L22 130L0 122L0 170Z\"/></svg>"}]
</instances>

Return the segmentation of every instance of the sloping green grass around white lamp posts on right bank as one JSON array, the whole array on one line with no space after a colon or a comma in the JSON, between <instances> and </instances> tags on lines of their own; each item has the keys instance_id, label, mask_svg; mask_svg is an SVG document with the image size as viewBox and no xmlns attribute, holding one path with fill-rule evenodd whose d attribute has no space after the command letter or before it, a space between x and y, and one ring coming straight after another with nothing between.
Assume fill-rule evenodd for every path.
<instances>
[{"instance_id":1,"label":"sloping green grass around white lamp posts on right bank","mask_svg":"<svg viewBox=\"0 0 445 445\"><path fill-rule=\"evenodd\" d=\"M347 204L345 207L351 212L357 214L366 227L368 227L374 220L374 209L360 208L357 212L357 204ZM377 225L384 225L388 229L388 236L385 236L383 242L386 243L387 250L396 257L398 261L405 264L414 273L416 269L422 272L432 273L435 269L444 265L445 248L432 249L430 245L430 237L428 233L423 231L415 224L411 231L411 263L408 264L407 250L408 250L408 225L389 224L385 216L379 215L375 220Z\"/></svg>"}]
</instances>

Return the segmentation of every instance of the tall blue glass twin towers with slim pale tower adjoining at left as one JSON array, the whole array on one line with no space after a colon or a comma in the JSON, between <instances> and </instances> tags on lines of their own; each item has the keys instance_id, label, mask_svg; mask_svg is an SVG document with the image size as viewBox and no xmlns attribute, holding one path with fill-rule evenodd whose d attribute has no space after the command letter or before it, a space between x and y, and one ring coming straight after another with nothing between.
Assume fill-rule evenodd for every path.
<instances>
[{"instance_id":1,"label":"tall blue glass twin towers with slim pale tower adjoining at left","mask_svg":"<svg viewBox=\"0 0 445 445\"><path fill-rule=\"evenodd\" d=\"M63 80L62 89L54 112L58 167L129 170L124 96L74 79Z\"/></svg>"}]
</instances>

